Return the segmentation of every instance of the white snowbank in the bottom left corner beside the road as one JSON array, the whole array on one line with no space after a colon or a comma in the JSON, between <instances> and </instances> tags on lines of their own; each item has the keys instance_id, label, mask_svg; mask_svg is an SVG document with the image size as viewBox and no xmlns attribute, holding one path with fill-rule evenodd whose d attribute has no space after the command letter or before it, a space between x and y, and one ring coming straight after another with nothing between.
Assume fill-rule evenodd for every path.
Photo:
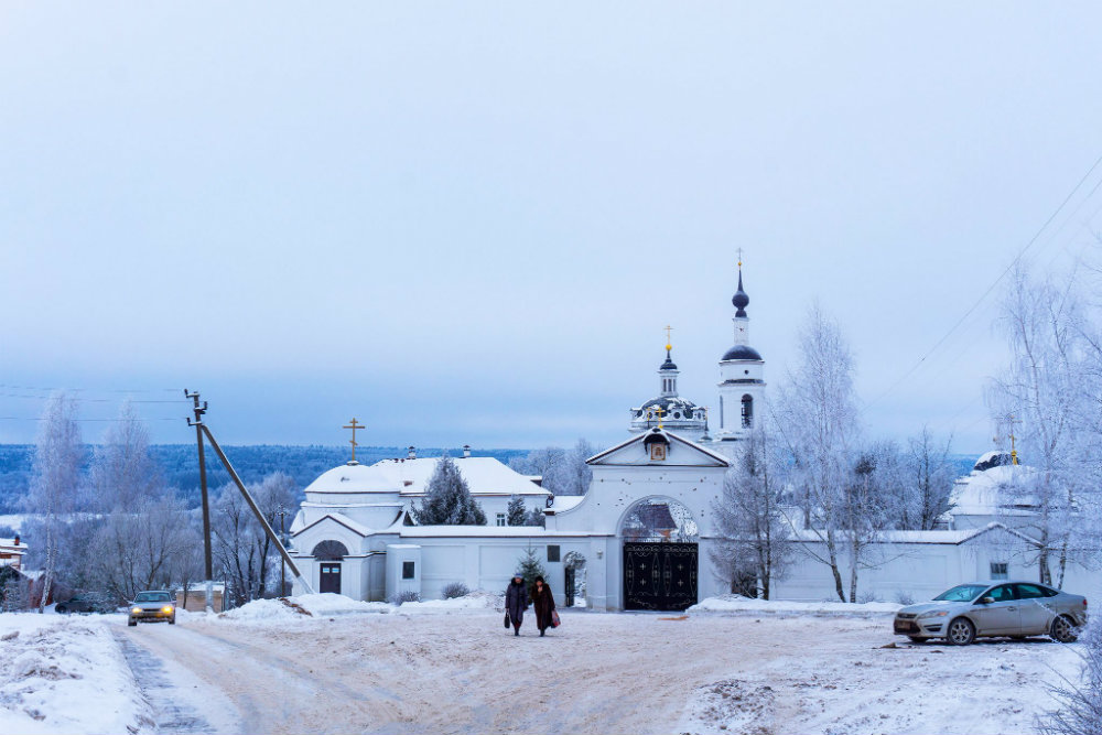
<instances>
[{"instance_id":1,"label":"white snowbank in the bottom left corner beside the road","mask_svg":"<svg viewBox=\"0 0 1102 735\"><path fill-rule=\"evenodd\" d=\"M2 613L0 641L0 733L126 733L154 726L99 616Z\"/></svg>"}]
</instances>

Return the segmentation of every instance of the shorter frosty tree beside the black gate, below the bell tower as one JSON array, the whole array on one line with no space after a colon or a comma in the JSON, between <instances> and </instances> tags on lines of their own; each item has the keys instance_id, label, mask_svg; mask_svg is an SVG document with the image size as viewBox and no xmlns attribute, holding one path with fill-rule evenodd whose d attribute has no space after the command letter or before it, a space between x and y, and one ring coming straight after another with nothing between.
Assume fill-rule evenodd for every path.
<instances>
[{"instance_id":1,"label":"shorter frosty tree beside the black gate, below the bell tower","mask_svg":"<svg viewBox=\"0 0 1102 735\"><path fill-rule=\"evenodd\" d=\"M781 511L782 484L771 437L763 423L741 443L735 466L712 507L722 541L711 551L716 575L732 592L769 599L793 551L791 528Z\"/></svg>"}]
</instances>

